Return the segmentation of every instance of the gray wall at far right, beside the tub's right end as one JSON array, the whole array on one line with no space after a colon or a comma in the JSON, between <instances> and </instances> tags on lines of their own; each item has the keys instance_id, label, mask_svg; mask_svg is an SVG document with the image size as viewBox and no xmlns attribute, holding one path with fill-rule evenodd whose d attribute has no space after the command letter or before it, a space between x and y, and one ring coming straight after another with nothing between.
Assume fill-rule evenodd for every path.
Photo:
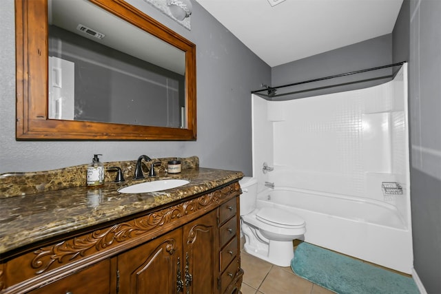
<instances>
[{"instance_id":1,"label":"gray wall at far right, beside the tub's right end","mask_svg":"<svg viewBox=\"0 0 441 294\"><path fill-rule=\"evenodd\" d=\"M441 1L404 0L409 14L409 117L414 267L441 293ZM400 15L401 16L401 15Z\"/></svg>"}]
</instances>

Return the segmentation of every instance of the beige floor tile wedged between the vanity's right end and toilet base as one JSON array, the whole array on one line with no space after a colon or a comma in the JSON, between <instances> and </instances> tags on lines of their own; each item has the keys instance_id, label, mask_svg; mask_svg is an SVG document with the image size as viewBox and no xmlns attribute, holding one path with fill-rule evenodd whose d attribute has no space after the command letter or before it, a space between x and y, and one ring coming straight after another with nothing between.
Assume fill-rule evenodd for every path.
<instances>
[{"instance_id":1,"label":"beige floor tile wedged between the vanity's right end and toilet base","mask_svg":"<svg viewBox=\"0 0 441 294\"><path fill-rule=\"evenodd\" d=\"M240 261L241 267L245 272L243 282L258 289L271 269L272 264L243 251L240 253Z\"/></svg>"}]
</instances>

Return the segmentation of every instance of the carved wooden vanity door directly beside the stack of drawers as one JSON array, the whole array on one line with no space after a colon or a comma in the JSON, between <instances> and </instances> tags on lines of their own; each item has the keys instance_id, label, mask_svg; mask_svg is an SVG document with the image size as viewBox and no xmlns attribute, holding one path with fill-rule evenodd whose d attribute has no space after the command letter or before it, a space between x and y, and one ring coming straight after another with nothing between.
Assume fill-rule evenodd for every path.
<instances>
[{"instance_id":1,"label":"carved wooden vanity door directly beside the stack of drawers","mask_svg":"<svg viewBox=\"0 0 441 294\"><path fill-rule=\"evenodd\" d=\"M184 293L218 293L217 211L183 228Z\"/></svg>"}]
</instances>

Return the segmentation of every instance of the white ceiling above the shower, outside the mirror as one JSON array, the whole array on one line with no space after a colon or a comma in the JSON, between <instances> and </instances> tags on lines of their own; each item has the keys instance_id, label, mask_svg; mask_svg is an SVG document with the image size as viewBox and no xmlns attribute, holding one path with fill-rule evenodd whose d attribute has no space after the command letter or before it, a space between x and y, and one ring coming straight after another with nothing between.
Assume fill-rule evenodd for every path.
<instances>
[{"instance_id":1,"label":"white ceiling above the shower, outside the mirror","mask_svg":"<svg viewBox=\"0 0 441 294\"><path fill-rule=\"evenodd\" d=\"M196 0L269 66L389 34L402 0Z\"/></svg>"}]
</instances>

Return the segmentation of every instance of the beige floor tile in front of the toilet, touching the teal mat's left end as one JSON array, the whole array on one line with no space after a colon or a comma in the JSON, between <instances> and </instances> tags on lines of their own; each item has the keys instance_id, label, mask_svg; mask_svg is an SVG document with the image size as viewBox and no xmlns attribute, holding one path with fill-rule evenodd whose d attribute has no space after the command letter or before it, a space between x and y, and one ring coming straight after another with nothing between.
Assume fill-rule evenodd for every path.
<instances>
[{"instance_id":1,"label":"beige floor tile in front of the toilet, touching the teal mat's left end","mask_svg":"<svg viewBox=\"0 0 441 294\"><path fill-rule=\"evenodd\" d=\"M311 282L294 275L294 273L289 273L280 266L274 266L258 291L265 294L310 294L312 286Z\"/></svg>"}]
</instances>

